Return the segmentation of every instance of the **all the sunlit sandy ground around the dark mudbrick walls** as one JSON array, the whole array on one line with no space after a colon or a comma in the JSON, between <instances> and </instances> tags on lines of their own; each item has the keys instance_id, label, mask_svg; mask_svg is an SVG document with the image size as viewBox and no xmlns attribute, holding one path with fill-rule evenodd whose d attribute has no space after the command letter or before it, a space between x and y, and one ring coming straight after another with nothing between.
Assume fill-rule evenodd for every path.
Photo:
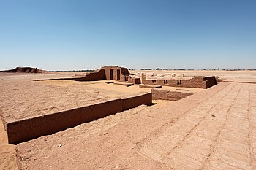
<instances>
[{"instance_id":1,"label":"all the sunlit sandy ground around the dark mudbrick walls","mask_svg":"<svg viewBox=\"0 0 256 170\"><path fill-rule=\"evenodd\" d=\"M17 145L7 144L0 126L0 169L256 169L255 71L143 72L225 81ZM104 81L32 81L73 74L0 74L1 116L18 120L150 91Z\"/></svg>"}]
</instances>

